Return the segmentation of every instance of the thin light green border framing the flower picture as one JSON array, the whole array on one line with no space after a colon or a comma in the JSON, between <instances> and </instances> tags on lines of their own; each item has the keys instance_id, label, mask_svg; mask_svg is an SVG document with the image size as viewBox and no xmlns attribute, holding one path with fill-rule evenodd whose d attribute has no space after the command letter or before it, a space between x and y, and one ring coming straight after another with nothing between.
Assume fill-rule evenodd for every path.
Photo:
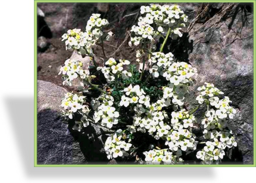
<instances>
[{"instance_id":1,"label":"thin light green border framing the flower picture","mask_svg":"<svg viewBox=\"0 0 256 183\"><path fill-rule=\"evenodd\" d=\"M256 167L256 0L242 0L254 7L254 164L250 165L38 165L37 164L37 3L40 2L241 2L241 0L34 0L34 167Z\"/></svg>"}]
</instances>

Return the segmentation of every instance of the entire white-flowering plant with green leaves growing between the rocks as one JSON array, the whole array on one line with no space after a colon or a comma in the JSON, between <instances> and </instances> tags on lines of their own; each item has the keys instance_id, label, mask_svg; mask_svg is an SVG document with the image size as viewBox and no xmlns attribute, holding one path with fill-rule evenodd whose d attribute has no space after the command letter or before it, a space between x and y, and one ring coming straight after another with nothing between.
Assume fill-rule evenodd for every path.
<instances>
[{"instance_id":1,"label":"entire white-flowering plant with green leaves growing between the rocks","mask_svg":"<svg viewBox=\"0 0 256 183\"><path fill-rule=\"evenodd\" d=\"M205 83L198 88L196 100L199 106L207 107L207 111L201 122L203 137L197 139L193 128L198 124L195 125L193 113L199 106L187 111L184 105L188 87L195 84L197 69L174 59L171 52L162 53L166 41L156 50L159 37L166 40L169 36L172 39L182 36L187 16L177 5L150 4L142 6L140 13L138 24L132 26L129 45L138 46L136 61L143 60L144 70L137 69L129 60L105 57L102 58L104 65L97 66L92 48L98 41L104 44L112 35L102 31L108 21L100 18L100 14L92 14L85 32L72 29L62 36L66 49L90 56L97 67L90 68L90 73L83 69L80 61L68 59L60 68L63 84L71 86L71 82L79 78L83 83L78 92L87 96L66 93L62 100L64 115L74 120L73 129L78 131L90 124L108 128L105 141L108 159L136 156L139 163L178 164L194 151L198 161L219 163L226 148L237 146L227 125L236 113L229 97L221 97L224 93L213 84ZM101 47L103 49L103 45ZM74 116L75 113L78 115ZM197 141L201 139L203 142ZM139 157L142 152L145 157Z\"/></svg>"}]
</instances>

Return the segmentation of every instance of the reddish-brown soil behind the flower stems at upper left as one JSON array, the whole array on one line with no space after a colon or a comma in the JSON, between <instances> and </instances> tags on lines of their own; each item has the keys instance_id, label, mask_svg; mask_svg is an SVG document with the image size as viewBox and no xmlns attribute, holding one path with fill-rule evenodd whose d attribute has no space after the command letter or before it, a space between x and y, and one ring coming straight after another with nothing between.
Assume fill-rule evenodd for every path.
<instances>
[{"instance_id":1,"label":"reddish-brown soil behind the flower stems at upper left","mask_svg":"<svg viewBox=\"0 0 256 183\"><path fill-rule=\"evenodd\" d=\"M116 6L118 7L121 5L122 4ZM64 64L66 59L70 58L72 51L65 49L65 43L61 41L61 36L63 33L68 31L68 29L81 28L83 31L83 27L86 25L91 13L98 13L98 10L96 10L96 4L86 3L38 3L38 7L45 14L44 20L52 31L52 38L47 38L48 48L44 52L37 52L37 79L49 81L57 84L58 86L63 86L61 75L58 75L59 68ZM81 12L81 8L83 8L83 13L79 14L79 12ZM138 10L135 9L135 11ZM112 16L112 22L116 22L110 23L110 26L107 27L106 31L111 30L115 36L110 40L110 42L104 43L105 53L108 58L113 57L115 59L127 59L134 62L136 59L135 48L129 47L129 37L128 39L125 39L129 29L128 26L131 22L128 21L129 25L123 26L123 20L121 21L118 19L120 12L121 11L118 11L115 15L113 15L113 12L109 13L109 15L104 14L104 16L107 16L106 18ZM125 15L126 14L122 16ZM113 20L114 17L117 19ZM123 31L124 28L125 31ZM123 34L121 35L120 32L123 32ZM118 47L120 47L120 49L116 52ZM94 48L94 53L98 57L104 58L102 48L100 46ZM69 91L74 89L69 86L63 87Z\"/></svg>"}]
</instances>

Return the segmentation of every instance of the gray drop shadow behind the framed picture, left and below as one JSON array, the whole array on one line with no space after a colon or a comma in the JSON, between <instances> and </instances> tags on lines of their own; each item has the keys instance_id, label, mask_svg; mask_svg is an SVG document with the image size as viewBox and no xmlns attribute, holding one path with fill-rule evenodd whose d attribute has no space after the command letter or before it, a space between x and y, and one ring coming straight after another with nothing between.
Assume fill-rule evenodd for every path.
<instances>
[{"instance_id":1,"label":"gray drop shadow behind the framed picture, left and below","mask_svg":"<svg viewBox=\"0 0 256 183\"><path fill-rule=\"evenodd\" d=\"M34 167L34 99L33 97L6 96L5 101L13 135L16 137L16 145L23 160L23 171L28 178L111 178L115 172L116 178L127 176L127 170L132 169L132 176L135 178L145 178L145 175L155 175L161 173L161 178L186 177L191 178L213 178L215 176L212 167ZM15 112L15 114L14 114ZM100 172L100 173L99 173ZM159 180L158 176L150 177Z\"/></svg>"}]
</instances>

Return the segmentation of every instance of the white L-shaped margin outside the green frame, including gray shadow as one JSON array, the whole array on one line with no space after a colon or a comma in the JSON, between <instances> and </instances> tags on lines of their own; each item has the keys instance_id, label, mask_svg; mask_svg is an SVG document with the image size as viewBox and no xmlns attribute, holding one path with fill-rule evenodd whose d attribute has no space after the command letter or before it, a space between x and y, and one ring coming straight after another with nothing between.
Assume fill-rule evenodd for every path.
<instances>
[{"instance_id":1,"label":"white L-shaped margin outside the green frame, including gray shadow","mask_svg":"<svg viewBox=\"0 0 256 183\"><path fill-rule=\"evenodd\" d=\"M256 168L33 167L34 1L0 5L1 182L246 182Z\"/></svg>"}]
</instances>

